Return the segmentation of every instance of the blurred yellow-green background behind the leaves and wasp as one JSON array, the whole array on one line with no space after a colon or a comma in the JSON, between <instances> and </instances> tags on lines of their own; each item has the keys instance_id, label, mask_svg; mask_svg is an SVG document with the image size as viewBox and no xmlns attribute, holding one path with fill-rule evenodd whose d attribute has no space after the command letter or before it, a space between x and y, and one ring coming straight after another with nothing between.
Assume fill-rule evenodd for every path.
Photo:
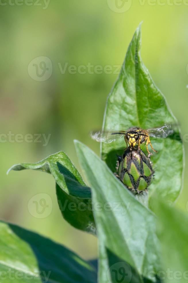
<instances>
[{"instance_id":1,"label":"blurred yellow-green background behind the leaves and wasp","mask_svg":"<svg viewBox=\"0 0 188 283\"><path fill-rule=\"evenodd\" d=\"M36 0L30 5L11 1L0 4L1 133L45 133L51 138L47 146L43 146L43 139L42 143L0 143L0 217L50 237L83 258L93 258L97 241L64 221L52 176L29 170L7 176L6 171L15 163L39 161L59 150L79 168L73 139L99 154L99 144L90 139L89 132L101 129L106 98L118 76L114 66L122 64L141 21L143 62L179 120L182 135L188 133L188 6L183 1L177 5L175 0L161 1L165 5L130 0L51 0L48 6L42 0L37 5ZM123 11L121 6L128 8L124 5L129 4ZM33 79L28 69L29 63L41 56L48 57L53 67L45 81L36 80L36 69ZM103 71L81 74L77 70L72 74L66 70L62 74L60 70L65 64L78 68L88 63L101 65ZM107 65L112 66L110 74L104 71ZM187 143L185 157L187 160ZM184 189L176 203L185 212L186 172L187 167ZM29 200L38 193L49 194L53 202L46 218L34 217L28 210Z\"/></svg>"}]
</instances>

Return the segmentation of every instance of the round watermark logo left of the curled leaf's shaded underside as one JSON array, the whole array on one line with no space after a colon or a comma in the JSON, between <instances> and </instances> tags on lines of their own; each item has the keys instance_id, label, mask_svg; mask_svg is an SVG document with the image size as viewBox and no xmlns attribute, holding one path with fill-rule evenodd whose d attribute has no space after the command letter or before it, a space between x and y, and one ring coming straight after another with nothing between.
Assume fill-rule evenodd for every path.
<instances>
[{"instance_id":1,"label":"round watermark logo left of the curled leaf's shaded underside","mask_svg":"<svg viewBox=\"0 0 188 283\"><path fill-rule=\"evenodd\" d=\"M52 199L47 193L38 193L28 201L28 211L35 218L48 217L52 208Z\"/></svg>"}]
</instances>

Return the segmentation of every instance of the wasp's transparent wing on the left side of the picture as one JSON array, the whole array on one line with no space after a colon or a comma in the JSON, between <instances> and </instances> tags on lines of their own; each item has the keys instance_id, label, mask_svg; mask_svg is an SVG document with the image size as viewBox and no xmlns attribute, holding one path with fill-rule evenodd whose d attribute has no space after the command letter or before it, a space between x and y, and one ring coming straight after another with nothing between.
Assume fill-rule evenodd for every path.
<instances>
[{"instance_id":1,"label":"wasp's transparent wing on the left side of the picture","mask_svg":"<svg viewBox=\"0 0 188 283\"><path fill-rule=\"evenodd\" d=\"M110 144L124 136L125 131L92 131L90 136L97 142Z\"/></svg>"}]
</instances>

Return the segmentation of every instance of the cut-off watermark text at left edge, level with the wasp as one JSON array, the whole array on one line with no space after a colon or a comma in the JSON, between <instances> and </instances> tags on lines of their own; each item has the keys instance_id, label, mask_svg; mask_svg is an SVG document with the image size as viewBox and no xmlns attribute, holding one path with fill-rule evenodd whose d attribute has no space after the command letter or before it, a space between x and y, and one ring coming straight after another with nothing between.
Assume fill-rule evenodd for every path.
<instances>
[{"instance_id":1,"label":"cut-off watermark text at left edge, level with the wasp","mask_svg":"<svg viewBox=\"0 0 188 283\"><path fill-rule=\"evenodd\" d=\"M14 134L11 131L8 133L0 133L0 143L5 143L5 142L34 142L34 143L42 143L43 146L47 146L50 140L51 134Z\"/></svg>"}]
</instances>

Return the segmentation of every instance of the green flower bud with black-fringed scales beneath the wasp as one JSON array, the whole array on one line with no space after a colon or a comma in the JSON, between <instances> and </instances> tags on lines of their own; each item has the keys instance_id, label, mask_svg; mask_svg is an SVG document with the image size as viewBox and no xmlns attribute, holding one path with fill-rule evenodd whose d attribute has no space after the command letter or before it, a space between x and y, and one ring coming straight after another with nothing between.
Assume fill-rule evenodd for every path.
<instances>
[{"instance_id":1,"label":"green flower bud with black-fringed scales beneath the wasp","mask_svg":"<svg viewBox=\"0 0 188 283\"><path fill-rule=\"evenodd\" d=\"M126 187L135 192L141 193L151 183L154 170L149 157L146 157L142 150L128 147L122 157L117 161L117 177Z\"/></svg>"}]
</instances>

